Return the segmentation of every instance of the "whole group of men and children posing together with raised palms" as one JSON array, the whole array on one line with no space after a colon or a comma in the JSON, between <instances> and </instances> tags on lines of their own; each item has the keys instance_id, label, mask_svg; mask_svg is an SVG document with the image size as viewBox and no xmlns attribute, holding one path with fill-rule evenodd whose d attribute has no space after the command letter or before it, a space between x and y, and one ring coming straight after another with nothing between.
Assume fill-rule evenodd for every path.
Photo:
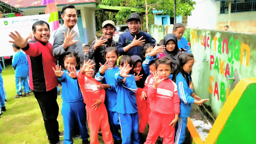
<instances>
[{"instance_id":1,"label":"whole group of men and children posing together with raised palms","mask_svg":"<svg viewBox=\"0 0 256 144\"><path fill-rule=\"evenodd\" d=\"M17 31L9 35L13 39L9 42L27 54L29 86L41 109L49 143L73 144L78 131L82 144L99 144L101 128L106 144L155 144L159 136L163 144L183 144L191 104L209 100L190 89L194 58L182 37L184 25L176 24L174 34L167 34L159 45L140 31L140 16L133 13L128 18L129 31L119 36L118 45L112 39L115 23L107 20L102 23L103 36L95 37L88 50L73 30L75 7L65 5L62 12L64 25L55 32L53 45L48 43L49 25L41 20L32 26L32 41ZM57 121L58 81L64 141L59 140Z\"/></svg>"}]
</instances>

